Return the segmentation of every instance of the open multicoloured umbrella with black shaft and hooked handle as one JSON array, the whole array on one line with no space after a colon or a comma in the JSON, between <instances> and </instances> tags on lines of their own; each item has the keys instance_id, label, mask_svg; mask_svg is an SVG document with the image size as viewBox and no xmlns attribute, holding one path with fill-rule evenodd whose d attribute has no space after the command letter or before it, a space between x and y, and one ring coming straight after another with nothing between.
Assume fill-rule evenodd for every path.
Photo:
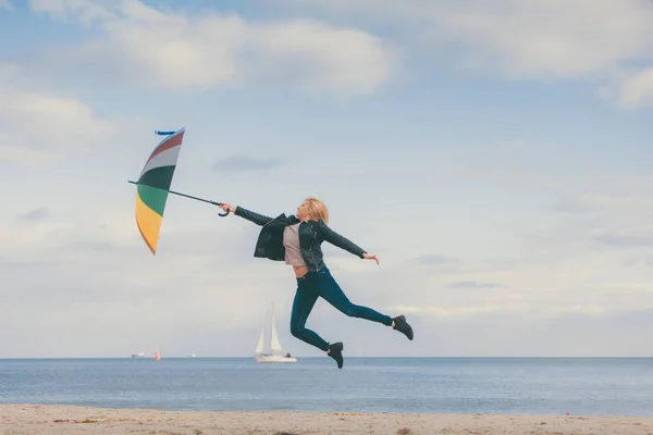
<instances>
[{"instance_id":1,"label":"open multicoloured umbrella with black shaft and hooked handle","mask_svg":"<svg viewBox=\"0 0 653 435\"><path fill-rule=\"evenodd\" d=\"M138 181L130 181L130 183L136 185L136 225L152 254L157 252L159 231L163 221L168 194L196 199L213 206L222 206L221 202L170 190L182 141L184 140L184 133L185 128L176 132L155 132L156 135L168 137L159 142L147 159ZM218 214L226 216L229 211Z\"/></svg>"}]
</instances>

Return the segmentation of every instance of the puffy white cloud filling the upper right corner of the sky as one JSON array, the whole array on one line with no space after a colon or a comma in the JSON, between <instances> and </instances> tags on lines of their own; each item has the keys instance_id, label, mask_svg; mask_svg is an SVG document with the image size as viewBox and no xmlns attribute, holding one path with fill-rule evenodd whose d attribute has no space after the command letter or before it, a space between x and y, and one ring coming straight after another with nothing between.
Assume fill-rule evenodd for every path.
<instances>
[{"instance_id":1,"label":"puffy white cloud filling the upper right corner of the sky","mask_svg":"<svg viewBox=\"0 0 653 435\"><path fill-rule=\"evenodd\" d=\"M517 77L604 74L649 55L653 8L644 1L456 2L435 18L467 47L470 64Z\"/></svg>"}]
</instances>

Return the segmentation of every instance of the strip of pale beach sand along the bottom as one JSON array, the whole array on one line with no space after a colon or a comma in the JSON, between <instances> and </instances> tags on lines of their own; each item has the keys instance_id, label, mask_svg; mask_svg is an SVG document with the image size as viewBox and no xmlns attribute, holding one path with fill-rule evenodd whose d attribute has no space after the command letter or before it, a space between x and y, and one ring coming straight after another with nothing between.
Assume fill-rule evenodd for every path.
<instances>
[{"instance_id":1,"label":"strip of pale beach sand along the bottom","mask_svg":"<svg viewBox=\"0 0 653 435\"><path fill-rule=\"evenodd\" d=\"M0 434L653 434L653 418L196 412L0 405Z\"/></svg>"}]
</instances>

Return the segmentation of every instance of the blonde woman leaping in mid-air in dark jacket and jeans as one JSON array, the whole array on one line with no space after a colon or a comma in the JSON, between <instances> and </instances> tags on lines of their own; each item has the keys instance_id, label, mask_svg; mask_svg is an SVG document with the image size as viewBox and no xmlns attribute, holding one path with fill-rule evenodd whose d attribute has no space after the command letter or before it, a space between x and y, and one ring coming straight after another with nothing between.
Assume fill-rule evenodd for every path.
<instances>
[{"instance_id":1,"label":"blonde woman leaping in mid-air in dark jacket and jeans","mask_svg":"<svg viewBox=\"0 0 653 435\"><path fill-rule=\"evenodd\" d=\"M297 291L291 314L291 333L303 341L326 352L333 358L338 369L343 368L343 344L329 344L315 332L306 327L306 320L318 297L324 298L344 314L353 318L367 319L396 330L408 339L412 339L412 328L404 315L390 318L370 308L356 306L347 299L340 288L322 258L322 241L329 241L361 259L374 260L377 256L369 254L361 248L347 240L326 226L329 210L316 198L307 198L297 208L297 215L280 214L272 219L242 207L229 203L220 206L224 211L231 211L257 225L262 226L259 234L255 257L274 261L285 261L292 265L297 279Z\"/></svg>"}]
</instances>

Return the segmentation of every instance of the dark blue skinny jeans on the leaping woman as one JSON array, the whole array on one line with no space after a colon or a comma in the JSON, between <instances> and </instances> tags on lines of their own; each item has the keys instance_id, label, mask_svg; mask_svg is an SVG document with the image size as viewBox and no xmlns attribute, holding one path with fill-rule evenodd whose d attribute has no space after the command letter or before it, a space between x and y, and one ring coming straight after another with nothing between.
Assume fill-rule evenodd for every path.
<instances>
[{"instance_id":1,"label":"dark blue skinny jeans on the leaping woman","mask_svg":"<svg viewBox=\"0 0 653 435\"><path fill-rule=\"evenodd\" d=\"M291 334L318 349L326 351L329 343L315 332L306 328L306 320L320 296L345 315L367 319L386 326L392 325L392 318L389 315L381 314L371 308L352 303L328 269L320 272L309 272L297 278L297 293L291 313Z\"/></svg>"}]
</instances>

